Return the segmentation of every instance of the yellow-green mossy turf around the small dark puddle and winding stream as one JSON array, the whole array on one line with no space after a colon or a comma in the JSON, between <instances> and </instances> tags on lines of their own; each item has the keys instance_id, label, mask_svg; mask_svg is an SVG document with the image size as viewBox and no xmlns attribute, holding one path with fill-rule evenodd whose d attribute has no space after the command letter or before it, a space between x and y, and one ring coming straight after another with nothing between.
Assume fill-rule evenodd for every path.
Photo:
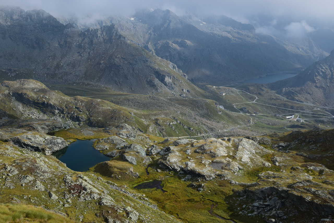
<instances>
[{"instance_id":1,"label":"yellow-green mossy turf around the small dark puddle and winding stream","mask_svg":"<svg viewBox=\"0 0 334 223\"><path fill-rule=\"evenodd\" d=\"M117 169L128 169L129 163L113 160ZM124 165L123 165L124 164ZM113 171L115 166L113 164ZM186 177L186 174L178 174L176 172L158 172L156 161L153 161L147 168L138 165L132 165L134 171L138 172L140 177L128 177L127 174L121 175L121 177L113 177L112 181L118 185L127 185L127 187L135 190L137 193L145 194L147 198L156 202L159 209L171 214L183 222L191 223L210 223L210 222L230 222L217 218L209 213L211 205L214 205L215 214L222 216L226 219L231 219L233 211L229 210L229 205L226 203L225 198L232 195L232 185L226 180L212 180L205 181L205 190L202 192L197 191L189 186L191 181L182 180ZM101 174L104 177L109 177L108 173L101 169L99 166L91 168L90 171L94 171L95 174ZM149 174L147 174L147 172ZM152 180L162 181L161 185L163 190L152 189L135 189L135 187L143 182L149 182ZM242 187L233 185L233 189L242 189ZM247 222L247 221L236 221Z\"/></svg>"}]
</instances>

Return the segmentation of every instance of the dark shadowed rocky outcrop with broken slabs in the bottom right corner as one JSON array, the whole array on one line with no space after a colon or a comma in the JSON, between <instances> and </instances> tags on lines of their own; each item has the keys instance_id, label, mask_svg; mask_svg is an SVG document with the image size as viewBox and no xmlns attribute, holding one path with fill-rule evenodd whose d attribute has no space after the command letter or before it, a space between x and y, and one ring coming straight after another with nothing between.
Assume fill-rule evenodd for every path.
<instances>
[{"instance_id":1,"label":"dark shadowed rocky outcrop with broken slabs in the bottom right corner","mask_svg":"<svg viewBox=\"0 0 334 223\"><path fill-rule=\"evenodd\" d=\"M304 181L300 184L314 185L311 181ZM305 186L304 185L304 186ZM237 203L244 204L243 210L240 212L244 215L255 216L260 215L264 219L274 219L272 222L282 221L289 218L299 216L306 210L313 212L317 217L315 219L322 219L322 216L328 216L334 214L334 205L327 200L320 202L316 199L311 199L311 196L320 197L321 199L329 199L321 195L320 193L300 193L298 190L288 189L285 187L266 187L256 190L245 189L243 191L236 192L237 195L242 197ZM245 201L251 199L254 203ZM298 204L298 205L296 205ZM314 222L315 219L307 219L306 222ZM317 221L316 221L317 222Z\"/></svg>"}]
</instances>

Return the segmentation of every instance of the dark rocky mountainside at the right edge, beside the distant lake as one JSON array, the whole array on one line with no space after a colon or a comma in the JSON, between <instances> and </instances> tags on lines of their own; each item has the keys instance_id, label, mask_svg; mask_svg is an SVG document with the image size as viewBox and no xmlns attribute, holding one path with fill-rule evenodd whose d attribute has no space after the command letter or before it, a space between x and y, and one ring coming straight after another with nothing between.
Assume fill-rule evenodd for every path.
<instances>
[{"instance_id":1,"label":"dark rocky mountainside at the right edge, beside the distant lake","mask_svg":"<svg viewBox=\"0 0 334 223\"><path fill-rule=\"evenodd\" d=\"M289 99L334 105L334 50L295 77L272 83L271 88Z\"/></svg>"}]
</instances>

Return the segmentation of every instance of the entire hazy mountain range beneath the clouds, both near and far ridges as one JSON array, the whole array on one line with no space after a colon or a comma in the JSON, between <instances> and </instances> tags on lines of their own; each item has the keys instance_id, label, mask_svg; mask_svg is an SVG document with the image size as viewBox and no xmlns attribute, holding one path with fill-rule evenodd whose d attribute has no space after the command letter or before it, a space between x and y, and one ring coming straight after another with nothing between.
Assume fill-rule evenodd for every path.
<instances>
[{"instance_id":1,"label":"entire hazy mountain range beneath the clouds, both near and far ridges","mask_svg":"<svg viewBox=\"0 0 334 223\"><path fill-rule=\"evenodd\" d=\"M194 88L186 74L197 83L235 82L322 57L320 51L290 51L287 43L228 18L208 18L200 25L196 18L157 9L138 12L133 20L114 16L85 26L71 19L59 22L43 10L0 11L4 80L94 83L131 93L179 95Z\"/></svg>"}]
</instances>

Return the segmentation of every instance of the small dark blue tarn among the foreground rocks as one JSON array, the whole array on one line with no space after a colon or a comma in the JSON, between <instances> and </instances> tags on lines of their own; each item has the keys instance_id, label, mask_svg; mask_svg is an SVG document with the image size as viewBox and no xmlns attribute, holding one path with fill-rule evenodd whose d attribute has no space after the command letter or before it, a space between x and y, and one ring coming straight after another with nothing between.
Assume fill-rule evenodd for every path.
<instances>
[{"instance_id":1,"label":"small dark blue tarn among the foreground rocks","mask_svg":"<svg viewBox=\"0 0 334 223\"><path fill-rule=\"evenodd\" d=\"M52 153L74 171L87 171L98 163L110 160L93 147L94 140L77 140L65 148Z\"/></svg>"}]
</instances>

